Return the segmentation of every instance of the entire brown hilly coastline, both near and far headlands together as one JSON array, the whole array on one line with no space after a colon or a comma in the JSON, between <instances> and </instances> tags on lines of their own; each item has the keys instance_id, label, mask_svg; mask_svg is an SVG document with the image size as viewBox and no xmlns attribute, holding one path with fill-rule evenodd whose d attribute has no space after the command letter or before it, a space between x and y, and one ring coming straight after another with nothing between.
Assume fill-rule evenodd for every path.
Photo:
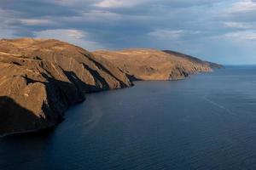
<instances>
[{"instance_id":1,"label":"entire brown hilly coastline, both near and far headlands together","mask_svg":"<svg viewBox=\"0 0 256 170\"><path fill-rule=\"evenodd\" d=\"M89 52L55 39L0 41L0 135L37 132L61 122L84 94L137 80L178 80L221 65L173 51Z\"/></svg>"}]
</instances>

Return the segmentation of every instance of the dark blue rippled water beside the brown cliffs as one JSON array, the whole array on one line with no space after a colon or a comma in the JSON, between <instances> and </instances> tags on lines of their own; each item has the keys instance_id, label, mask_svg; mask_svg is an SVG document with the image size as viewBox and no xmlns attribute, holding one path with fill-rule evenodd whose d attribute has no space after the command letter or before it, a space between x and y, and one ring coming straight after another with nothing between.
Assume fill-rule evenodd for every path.
<instances>
[{"instance_id":1,"label":"dark blue rippled water beside the brown cliffs","mask_svg":"<svg viewBox=\"0 0 256 170\"><path fill-rule=\"evenodd\" d=\"M256 66L87 95L53 131L0 139L0 169L256 169Z\"/></svg>"}]
</instances>

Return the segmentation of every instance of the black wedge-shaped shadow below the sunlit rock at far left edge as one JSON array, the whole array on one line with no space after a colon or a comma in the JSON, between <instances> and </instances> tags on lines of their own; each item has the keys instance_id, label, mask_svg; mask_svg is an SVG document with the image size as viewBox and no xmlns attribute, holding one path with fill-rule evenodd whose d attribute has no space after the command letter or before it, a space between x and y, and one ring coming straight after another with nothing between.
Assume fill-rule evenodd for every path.
<instances>
[{"instance_id":1,"label":"black wedge-shaped shadow below the sunlit rock at far left edge","mask_svg":"<svg viewBox=\"0 0 256 170\"><path fill-rule=\"evenodd\" d=\"M17 104L14 99L0 96L0 136L32 133L40 128L41 123L42 118Z\"/></svg>"}]
</instances>

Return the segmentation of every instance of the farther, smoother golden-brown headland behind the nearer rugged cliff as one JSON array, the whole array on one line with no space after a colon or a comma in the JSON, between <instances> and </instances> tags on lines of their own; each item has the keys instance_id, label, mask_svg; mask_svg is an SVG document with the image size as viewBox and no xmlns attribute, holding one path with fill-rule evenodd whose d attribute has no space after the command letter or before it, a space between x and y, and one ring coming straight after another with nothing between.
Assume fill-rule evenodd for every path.
<instances>
[{"instance_id":1,"label":"farther, smoother golden-brown headland behind the nearer rugged cliff","mask_svg":"<svg viewBox=\"0 0 256 170\"><path fill-rule=\"evenodd\" d=\"M171 51L135 48L94 54L108 59L128 77L137 80L177 80L189 74L212 71L208 62Z\"/></svg>"}]
</instances>

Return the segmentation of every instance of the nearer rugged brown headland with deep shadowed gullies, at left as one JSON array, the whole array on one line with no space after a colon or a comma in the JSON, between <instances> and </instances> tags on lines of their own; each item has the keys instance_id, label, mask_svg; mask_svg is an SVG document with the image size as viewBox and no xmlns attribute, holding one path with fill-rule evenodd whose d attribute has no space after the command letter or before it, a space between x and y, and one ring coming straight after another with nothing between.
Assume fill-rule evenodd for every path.
<instances>
[{"instance_id":1,"label":"nearer rugged brown headland with deep shadowed gullies, at left","mask_svg":"<svg viewBox=\"0 0 256 170\"><path fill-rule=\"evenodd\" d=\"M132 83L106 59L57 40L0 41L0 135L60 122L85 93Z\"/></svg>"}]
</instances>

